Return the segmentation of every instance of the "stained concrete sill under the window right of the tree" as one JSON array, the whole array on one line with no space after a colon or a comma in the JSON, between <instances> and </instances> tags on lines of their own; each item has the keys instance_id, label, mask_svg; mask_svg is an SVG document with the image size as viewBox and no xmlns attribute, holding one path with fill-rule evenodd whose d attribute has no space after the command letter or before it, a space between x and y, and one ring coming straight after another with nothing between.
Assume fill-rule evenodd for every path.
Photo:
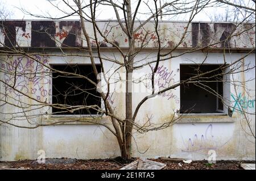
<instances>
[{"instance_id":1,"label":"stained concrete sill under the window right of the tree","mask_svg":"<svg viewBox=\"0 0 256 181\"><path fill-rule=\"evenodd\" d=\"M227 113L179 113L181 119L177 123L233 123L236 118Z\"/></svg>"}]
</instances>

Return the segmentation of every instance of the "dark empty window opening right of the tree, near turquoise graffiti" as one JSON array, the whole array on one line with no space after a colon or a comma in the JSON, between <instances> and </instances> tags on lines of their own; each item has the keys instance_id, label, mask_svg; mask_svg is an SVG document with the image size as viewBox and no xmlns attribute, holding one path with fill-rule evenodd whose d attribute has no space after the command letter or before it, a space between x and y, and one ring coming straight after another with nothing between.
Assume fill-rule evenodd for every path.
<instances>
[{"instance_id":1,"label":"dark empty window opening right of the tree, near turquoise graffiti","mask_svg":"<svg viewBox=\"0 0 256 181\"><path fill-rule=\"evenodd\" d=\"M201 65L199 74L218 67L220 65ZM197 69L198 65L180 65L180 81L197 75ZM224 112L222 102L224 85L221 70L199 77L196 81L200 81L202 85L184 83L180 86L180 113Z\"/></svg>"}]
</instances>

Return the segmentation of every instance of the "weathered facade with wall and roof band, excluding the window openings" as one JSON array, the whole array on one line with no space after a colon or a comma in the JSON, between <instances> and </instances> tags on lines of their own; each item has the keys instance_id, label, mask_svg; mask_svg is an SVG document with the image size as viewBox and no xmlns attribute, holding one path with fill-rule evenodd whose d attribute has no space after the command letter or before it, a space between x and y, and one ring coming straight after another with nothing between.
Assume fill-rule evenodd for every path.
<instances>
[{"instance_id":1,"label":"weathered facade with wall and roof band, excluding the window openings","mask_svg":"<svg viewBox=\"0 0 256 181\"><path fill-rule=\"evenodd\" d=\"M14 70L19 73L19 78L16 79L15 89L22 91L26 95L30 95L36 100L43 102L52 99L52 77L49 75L48 70L43 65L53 64L90 64L90 60L86 57L86 53L78 53L77 56L61 56L63 52L55 52L59 56L49 56L51 49L58 46L77 46L80 45L86 47L84 37L80 35L81 30L80 22L65 21L65 22L51 22L44 21L42 27L36 23L33 23L32 30L35 30L31 36L31 22L23 20L17 21L12 26L9 22L1 22L0 26L0 46L9 46L16 43L22 47L31 47L35 50L34 57L38 62L31 58L24 56L0 56L1 73L0 78L3 82L9 82L14 85ZM25 24L23 23L25 22ZM20 24L21 25L20 25ZM110 40L119 45L119 47L127 47L127 38L121 33L121 29L117 26L112 28L105 27L107 22L98 22L101 30L107 30L106 34ZM5 26L3 26L5 24ZM110 23L111 26L116 25L117 22ZM159 24L159 32L161 34L161 42L166 45L167 48L174 47L179 41L179 38L184 32L184 26L186 23L178 22L161 22ZM26 26L25 26L26 25ZM16 35L15 39L12 39L9 43L5 44L6 34L5 32L10 29L9 34L13 32L15 26ZM55 27L54 27L55 26ZM138 24L137 24L138 26ZM217 42L212 45L212 48L220 48L230 46L237 49L251 48L255 45L255 28L251 24L242 24L240 30L248 30L247 33L231 37L227 41L218 43L220 40L225 40L232 33L233 25L228 23L192 23L189 27L189 33L183 43L180 44L180 48L189 48L207 45L208 43ZM12 28L8 28L12 27ZM154 35L154 26L151 24L145 25L145 30L150 32L147 35L150 39L147 47L156 47L157 41ZM88 28L89 36L93 37L92 26L86 22L86 28ZM104 29L105 28L105 29ZM192 32L191 32L192 30ZM38 31L38 32L36 32ZM39 33L41 32L41 33ZM74 35L75 34L75 35ZM82 33L81 33L82 34ZM208 38L208 35L210 39ZM41 36L40 42L38 40L32 40L36 36ZM45 37L45 38L42 38ZM81 35L82 36L82 35ZM146 36L145 31L139 31L135 34L136 45L138 46ZM13 36L14 37L14 36ZM54 41L55 44L54 44ZM111 44L105 43L102 39L101 47L109 47L102 50L102 57L113 58L113 60L123 60L119 52L112 48ZM6 41L7 42L7 41ZM32 43L34 42L34 43ZM31 45L32 44L32 45ZM92 45L95 46L95 42L92 40ZM37 47L42 46L42 47ZM47 56L45 54L37 54L42 48L52 46L51 49L47 49ZM1 48L0 48L1 49ZM37 52L38 51L38 52ZM174 52L178 54L180 52ZM234 60L238 60L244 56L244 53L226 54L226 64L232 64ZM147 64L148 61L155 60L157 57L157 50L145 49L136 54L135 62L138 64ZM207 64L224 64L222 53L210 52L207 54ZM205 54L202 52L193 52L184 54L183 56L171 58L170 60L160 62L158 79L156 85L166 86L173 85L175 82L180 81L179 69L181 64L201 64L205 59ZM245 65L255 66L255 53L250 54L244 60ZM39 64L39 62L41 64ZM96 64L99 61L96 60ZM106 71L112 68L117 68L112 62L103 62ZM137 64L137 65L138 65ZM16 68L16 69L15 69ZM122 74L124 69L118 69L117 73ZM35 73L35 76L24 76L25 74ZM146 66L143 69L134 70L134 73L151 73L151 69ZM233 75L233 81L243 81L249 79L255 79L255 69L251 69L246 72L240 72ZM121 87L125 87L120 84ZM230 85L229 99L231 100L230 109L233 111L232 117L228 115L191 115L186 116L181 123L177 123L174 126L163 129L157 132L148 132L143 135L135 134L135 141L138 144L138 148L133 142L132 153L134 157L140 158L158 158L158 157L175 157L181 159L207 159L208 151L216 151L216 159L255 159L255 138L249 137L243 131L246 127L243 120L242 109L248 112L255 112L255 81L247 81L244 85L250 87L250 90L245 90L245 87L234 90L234 86ZM114 87L114 86L113 86ZM110 89L113 87L110 86ZM5 95L10 101L11 98L21 100L23 103L30 101L23 94L16 92L12 87L6 87L4 83L0 84L1 100L5 100ZM236 96L237 93L237 96ZM147 93L139 92L133 95L133 110L140 100L147 96ZM125 96L123 93L114 92L110 97L110 103L115 107L115 111L118 116L123 116L125 112ZM238 102L243 102L241 106ZM19 105L18 103L16 105ZM152 123L164 124L170 121L174 112L180 110L180 89L177 87L175 90L170 90L164 94L158 95L156 98L147 100L143 104L141 111L138 114L138 122L144 124L143 121L148 119L148 116L152 116ZM21 108L15 107L11 104L1 102L0 106L0 118L1 120L8 120L11 116L22 117L24 116ZM31 117L33 123L52 123L53 121L64 120L77 120L77 117L51 117L46 115L49 110L40 109L31 111L34 116ZM173 112L174 111L174 112ZM5 114L6 113L6 114ZM16 113L16 114L15 114ZM44 113L43 116L38 116ZM24 117L23 117L24 118ZM84 118L83 118L84 119ZM86 118L90 119L90 118ZM249 115L253 128L255 130L255 116ZM97 118L97 121L109 121L109 117L103 116ZM15 120L11 120L11 123L17 123ZM243 128L241 127L243 125ZM19 121L19 125L31 125L27 123L26 119ZM86 125L80 123L65 124L51 127L40 127L36 129L21 129L11 125L0 126L0 160L2 161L14 161L20 159L36 159L38 157L38 150L46 151L46 158L79 158L79 159L94 159L94 158L111 158L120 155L117 141L112 133L108 129L99 125ZM146 153L141 154L138 150ZM193 162L192 162L193 163ZM190 163L190 164L192 164Z\"/></svg>"}]
</instances>

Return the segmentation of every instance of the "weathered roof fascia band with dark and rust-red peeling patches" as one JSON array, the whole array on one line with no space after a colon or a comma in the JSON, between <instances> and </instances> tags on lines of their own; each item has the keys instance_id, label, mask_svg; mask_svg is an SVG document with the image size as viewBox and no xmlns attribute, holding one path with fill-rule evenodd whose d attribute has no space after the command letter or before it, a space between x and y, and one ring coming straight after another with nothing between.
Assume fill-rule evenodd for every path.
<instances>
[{"instance_id":1,"label":"weathered roof fascia band with dark and rust-red peeling patches","mask_svg":"<svg viewBox=\"0 0 256 181\"><path fill-rule=\"evenodd\" d=\"M122 32L117 22L97 22L110 43L119 47L127 47L127 36ZM91 38L92 47L96 47L91 23L85 22L86 30ZM135 23L135 28L139 22ZM160 40L157 39L154 23L148 22L134 34L135 46L156 48L158 41L162 47L172 48L179 43L187 22L159 22ZM81 31L81 22L66 21L3 21L0 22L0 47L87 47ZM103 37L98 36L100 47L113 47L106 43ZM255 47L255 24L233 23L191 23L185 39L179 48L253 48Z\"/></svg>"}]
</instances>

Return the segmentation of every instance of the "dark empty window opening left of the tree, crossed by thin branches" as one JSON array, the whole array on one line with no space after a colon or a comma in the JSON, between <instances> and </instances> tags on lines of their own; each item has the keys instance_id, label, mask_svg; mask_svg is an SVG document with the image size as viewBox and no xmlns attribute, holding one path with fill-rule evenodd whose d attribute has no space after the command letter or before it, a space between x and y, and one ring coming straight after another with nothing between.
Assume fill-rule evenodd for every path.
<instances>
[{"instance_id":1,"label":"dark empty window opening left of the tree, crossed by thin branches","mask_svg":"<svg viewBox=\"0 0 256 181\"><path fill-rule=\"evenodd\" d=\"M97 77L93 72L92 65L52 65L53 69L84 75L97 83ZM96 65L98 73L101 66ZM96 87L84 78L70 74L52 73L52 103L66 104L69 106L93 106L101 107L100 93ZM52 113L57 115L96 115L93 108L80 109L73 112L52 107Z\"/></svg>"}]
</instances>

